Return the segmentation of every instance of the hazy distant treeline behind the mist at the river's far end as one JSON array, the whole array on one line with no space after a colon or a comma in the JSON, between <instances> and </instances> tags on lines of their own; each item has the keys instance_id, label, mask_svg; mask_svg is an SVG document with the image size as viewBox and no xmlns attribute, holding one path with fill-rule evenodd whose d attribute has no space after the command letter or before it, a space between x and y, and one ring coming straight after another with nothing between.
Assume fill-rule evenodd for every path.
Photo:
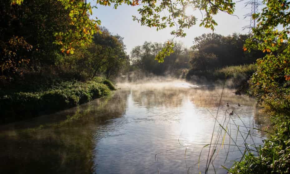
<instances>
[{"instance_id":1,"label":"hazy distant treeline behind the mist at the river's far end","mask_svg":"<svg viewBox=\"0 0 290 174\"><path fill-rule=\"evenodd\" d=\"M131 70L140 69L155 75L183 74L189 70L190 78L195 72L206 73L234 65L253 64L265 53L257 50L244 51L244 44L249 35L234 33L222 36L216 33L203 34L194 38L193 45L187 49L181 42L174 43L174 53L158 63L155 56L166 43L144 42L131 51Z\"/></svg>"}]
</instances>

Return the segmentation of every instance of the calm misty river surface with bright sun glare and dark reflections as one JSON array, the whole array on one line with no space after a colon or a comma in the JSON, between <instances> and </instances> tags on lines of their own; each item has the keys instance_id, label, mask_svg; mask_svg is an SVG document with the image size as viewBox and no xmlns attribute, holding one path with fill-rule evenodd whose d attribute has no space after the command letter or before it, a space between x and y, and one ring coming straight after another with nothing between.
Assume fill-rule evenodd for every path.
<instances>
[{"instance_id":1,"label":"calm misty river surface with bright sun glare and dark reflections","mask_svg":"<svg viewBox=\"0 0 290 174\"><path fill-rule=\"evenodd\" d=\"M79 107L1 125L0 173L225 174L221 165L265 138L254 99L231 89L173 80L118 87Z\"/></svg>"}]
</instances>

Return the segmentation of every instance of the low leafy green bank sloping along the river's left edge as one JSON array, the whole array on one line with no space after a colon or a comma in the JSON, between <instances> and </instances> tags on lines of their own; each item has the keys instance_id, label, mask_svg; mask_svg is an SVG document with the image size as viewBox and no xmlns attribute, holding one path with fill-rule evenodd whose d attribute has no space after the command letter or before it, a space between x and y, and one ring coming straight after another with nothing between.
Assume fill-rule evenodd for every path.
<instances>
[{"instance_id":1,"label":"low leafy green bank sloping along the river's left edge","mask_svg":"<svg viewBox=\"0 0 290 174\"><path fill-rule=\"evenodd\" d=\"M27 85L26 85L27 86ZM90 81L65 80L31 84L23 89L6 89L0 93L0 123L8 123L42 114L50 114L74 107L110 93L114 85L109 80L95 78Z\"/></svg>"}]
</instances>

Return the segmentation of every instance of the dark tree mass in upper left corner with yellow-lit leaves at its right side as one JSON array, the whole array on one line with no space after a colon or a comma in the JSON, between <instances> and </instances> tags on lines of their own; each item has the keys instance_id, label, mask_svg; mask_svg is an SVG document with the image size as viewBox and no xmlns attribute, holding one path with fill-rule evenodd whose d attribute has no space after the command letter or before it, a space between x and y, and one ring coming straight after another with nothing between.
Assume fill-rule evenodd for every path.
<instances>
[{"instance_id":1,"label":"dark tree mass in upper left corner with yellow-lit leaves at its right side","mask_svg":"<svg viewBox=\"0 0 290 174\"><path fill-rule=\"evenodd\" d=\"M0 2L1 75L54 65L56 52L73 53L77 42L88 43L97 30L87 15L91 7L82 0Z\"/></svg>"}]
</instances>

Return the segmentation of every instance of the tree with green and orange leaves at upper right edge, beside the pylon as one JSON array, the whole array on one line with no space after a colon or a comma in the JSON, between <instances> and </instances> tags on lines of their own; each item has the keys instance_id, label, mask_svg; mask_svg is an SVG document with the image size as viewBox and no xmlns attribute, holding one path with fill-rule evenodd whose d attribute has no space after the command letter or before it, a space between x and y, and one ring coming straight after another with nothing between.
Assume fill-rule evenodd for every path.
<instances>
[{"instance_id":1,"label":"tree with green and orange leaves at upper right edge, beside the pylon","mask_svg":"<svg viewBox=\"0 0 290 174\"><path fill-rule=\"evenodd\" d=\"M253 15L258 24L245 44L245 51L268 53L257 60L258 70L251 79L253 94L269 110L287 113L290 108L290 2L264 1L261 13ZM262 40L262 42L255 42Z\"/></svg>"}]
</instances>

